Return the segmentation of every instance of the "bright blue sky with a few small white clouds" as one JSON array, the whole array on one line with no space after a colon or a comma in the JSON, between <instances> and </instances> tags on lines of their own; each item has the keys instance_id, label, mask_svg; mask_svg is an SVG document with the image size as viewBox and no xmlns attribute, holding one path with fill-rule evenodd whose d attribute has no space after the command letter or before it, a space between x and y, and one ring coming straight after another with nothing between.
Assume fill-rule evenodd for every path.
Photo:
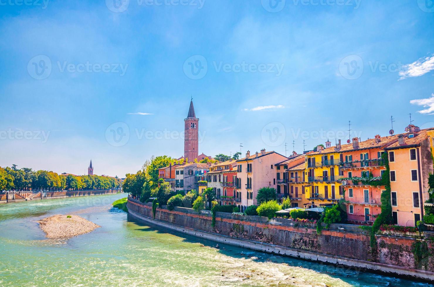
<instances>
[{"instance_id":1,"label":"bright blue sky with a few small white clouds","mask_svg":"<svg viewBox=\"0 0 434 287\"><path fill-rule=\"evenodd\" d=\"M432 0L0 0L0 166L181 157L191 97L210 156L434 127L433 26Z\"/></svg>"}]
</instances>

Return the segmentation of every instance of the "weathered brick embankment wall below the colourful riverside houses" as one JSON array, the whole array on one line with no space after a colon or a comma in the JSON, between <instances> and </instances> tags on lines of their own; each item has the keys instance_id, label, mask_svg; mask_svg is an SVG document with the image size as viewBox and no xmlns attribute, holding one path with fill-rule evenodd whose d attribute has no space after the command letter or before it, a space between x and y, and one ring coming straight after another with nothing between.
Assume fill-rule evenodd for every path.
<instances>
[{"instance_id":1,"label":"weathered brick embankment wall below the colourful riverside houses","mask_svg":"<svg viewBox=\"0 0 434 287\"><path fill-rule=\"evenodd\" d=\"M373 257L370 253L369 235L357 226L342 225L345 231L324 229L318 235L314 224L301 226L288 219L268 221L259 216L217 212L213 228L212 217L205 212L198 214L191 209L179 207L173 211L158 208L154 220L150 204L128 199L127 206L128 211L139 219L214 241L297 258L434 280L433 256L424 258L422 264L419 264L421 266L415 266L411 250L415 238L378 235L379 254ZM428 247L434 254L432 241Z\"/></svg>"}]
</instances>

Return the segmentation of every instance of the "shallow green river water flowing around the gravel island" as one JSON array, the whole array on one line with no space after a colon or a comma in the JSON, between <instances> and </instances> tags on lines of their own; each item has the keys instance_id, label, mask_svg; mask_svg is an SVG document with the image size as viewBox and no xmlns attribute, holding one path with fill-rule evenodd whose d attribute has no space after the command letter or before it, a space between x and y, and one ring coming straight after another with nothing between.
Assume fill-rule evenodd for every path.
<instances>
[{"instance_id":1,"label":"shallow green river water flowing around the gravel island","mask_svg":"<svg viewBox=\"0 0 434 287\"><path fill-rule=\"evenodd\" d=\"M136 221L125 194L0 205L0 286L433 286L264 254ZM75 214L101 228L46 239L36 220Z\"/></svg>"}]
</instances>

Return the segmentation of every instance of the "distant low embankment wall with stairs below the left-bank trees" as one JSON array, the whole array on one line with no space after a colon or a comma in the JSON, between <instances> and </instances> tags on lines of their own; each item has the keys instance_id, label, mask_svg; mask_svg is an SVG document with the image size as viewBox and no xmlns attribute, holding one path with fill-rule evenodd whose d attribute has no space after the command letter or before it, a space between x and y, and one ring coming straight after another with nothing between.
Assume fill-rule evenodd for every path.
<instances>
[{"instance_id":1,"label":"distant low embankment wall with stairs below the left-bank trees","mask_svg":"<svg viewBox=\"0 0 434 287\"><path fill-rule=\"evenodd\" d=\"M121 192L121 189L93 189L93 190L60 190L60 191L10 191L0 192L0 203L11 203L38 199L55 199L74 196L94 196Z\"/></svg>"}]
</instances>

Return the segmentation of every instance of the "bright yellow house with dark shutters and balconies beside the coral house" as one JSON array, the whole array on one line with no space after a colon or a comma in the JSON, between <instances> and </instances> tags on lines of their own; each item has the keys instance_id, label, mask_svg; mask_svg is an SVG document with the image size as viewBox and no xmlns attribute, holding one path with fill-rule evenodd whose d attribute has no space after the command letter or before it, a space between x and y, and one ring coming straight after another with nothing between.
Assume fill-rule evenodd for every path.
<instances>
[{"instance_id":1,"label":"bright yellow house with dark shutters and balconies beside the coral house","mask_svg":"<svg viewBox=\"0 0 434 287\"><path fill-rule=\"evenodd\" d=\"M341 183L337 182L342 177L339 171L340 149L340 140L335 147L327 141L325 148L319 145L316 151L306 154L304 207L333 205L343 198Z\"/></svg>"}]
</instances>

